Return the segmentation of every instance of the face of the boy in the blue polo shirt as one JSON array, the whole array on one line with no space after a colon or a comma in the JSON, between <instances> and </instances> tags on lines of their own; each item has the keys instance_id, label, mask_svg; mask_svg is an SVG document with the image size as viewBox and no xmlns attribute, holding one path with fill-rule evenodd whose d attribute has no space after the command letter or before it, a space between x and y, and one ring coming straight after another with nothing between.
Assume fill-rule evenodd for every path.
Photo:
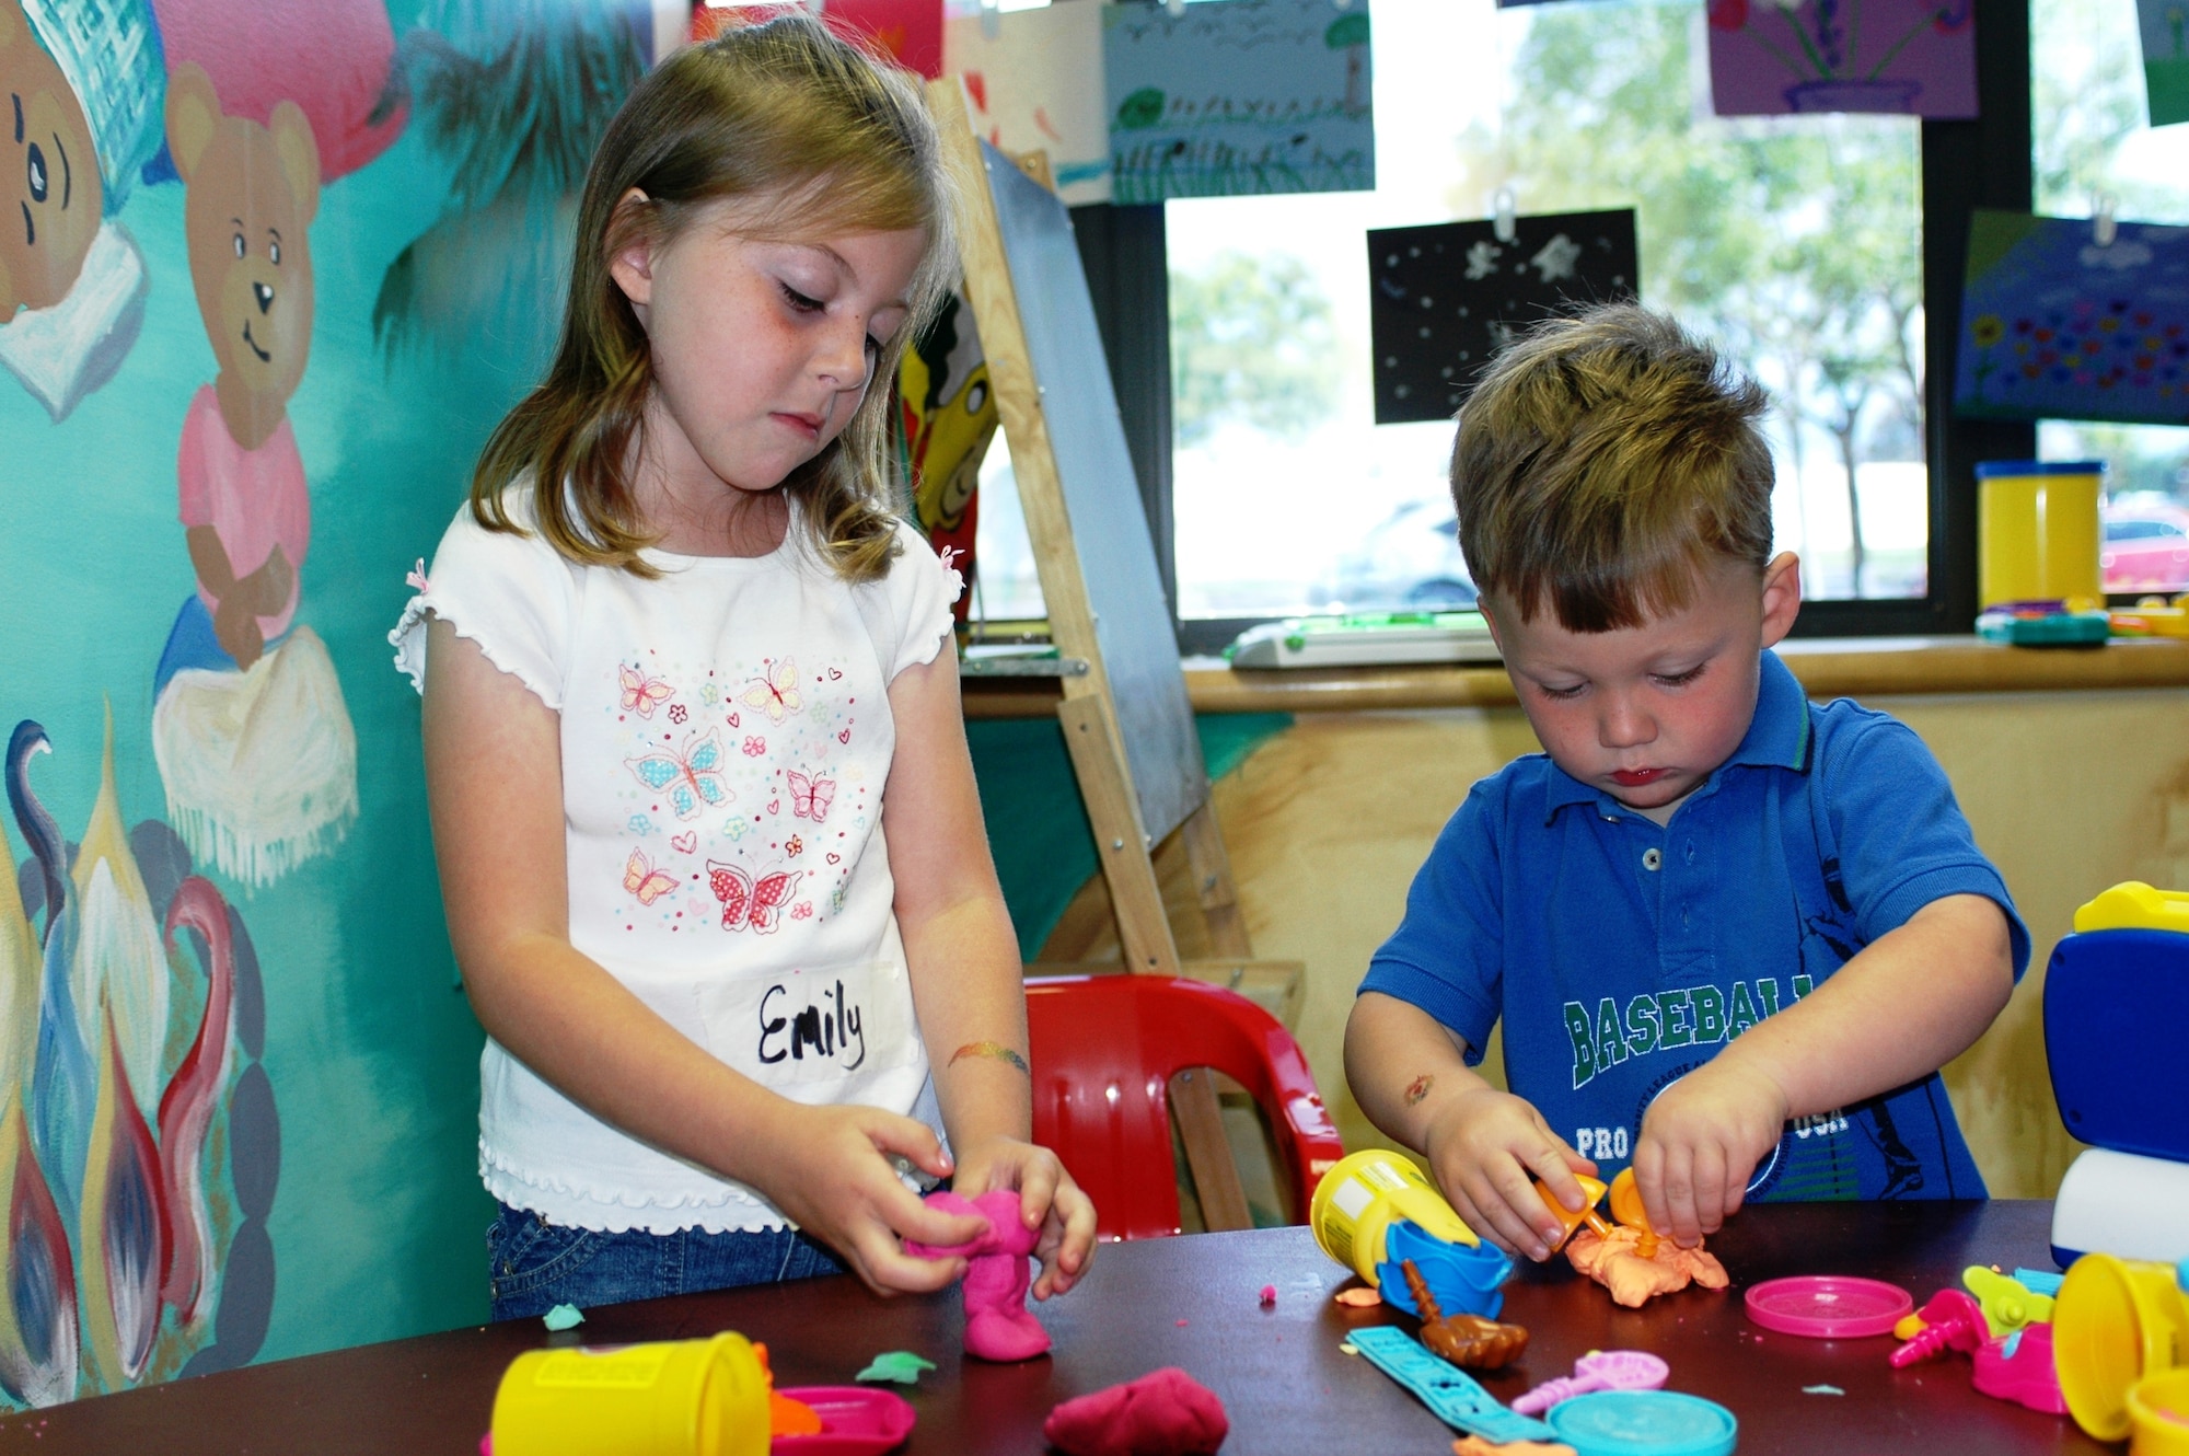
<instances>
[{"instance_id":1,"label":"face of the boy in the blue polo shirt","mask_svg":"<svg viewBox=\"0 0 2189 1456\"><path fill-rule=\"evenodd\" d=\"M1532 622L1484 602L1534 736L1570 775L1664 823L1731 758L1756 716L1758 652L1802 609L1802 569L1716 561L1688 604L1642 626L1572 633L1545 604Z\"/></svg>"}]
</instances>

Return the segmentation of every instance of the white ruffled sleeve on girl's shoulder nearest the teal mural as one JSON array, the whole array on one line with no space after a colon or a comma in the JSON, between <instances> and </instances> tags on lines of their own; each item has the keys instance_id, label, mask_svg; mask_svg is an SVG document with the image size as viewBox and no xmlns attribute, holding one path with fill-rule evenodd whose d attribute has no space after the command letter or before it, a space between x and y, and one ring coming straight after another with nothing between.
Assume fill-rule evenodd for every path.
<instances>
[{"instance_id":1,"label":"white ruffled sleeve on girl's shoulder nearest the teal mural","mask_svg":"<svg viewBox=\"0 0 2189 1456\"><path fill-rule=\"evenodd\" d=\"M510 515L523 521L517 510ZM466 504L442 534L433 567L414 571L412 587L418 596L387 642L396 648L396 670L407 672L418 692L425 692L427 617L440 617L541 703L563 709L578 582L576 567L545 539L486 530Z\"/></svg>"}]
</instances>

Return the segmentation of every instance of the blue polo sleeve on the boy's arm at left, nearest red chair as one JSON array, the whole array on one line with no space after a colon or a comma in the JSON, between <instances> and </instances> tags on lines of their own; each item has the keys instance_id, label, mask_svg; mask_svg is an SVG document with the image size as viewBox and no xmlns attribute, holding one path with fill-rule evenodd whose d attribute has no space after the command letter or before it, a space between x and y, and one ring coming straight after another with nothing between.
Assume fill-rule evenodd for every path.
<instances>
[{"instance_id":1,"label":"blue polo sleeve on the boy's arm at left, nearest red chair","mask_svg":"<svg viewBox=\"0 0 2189 1456\"><path fill-rule=\"evenodd\" d=\"M1405 893L1405 917L1370 957L1364 992L1421 1007L1482 1060L1504 992L1497 828L1506 784L1484 779L1445 823Z\"/></svg>"}]
</instances>

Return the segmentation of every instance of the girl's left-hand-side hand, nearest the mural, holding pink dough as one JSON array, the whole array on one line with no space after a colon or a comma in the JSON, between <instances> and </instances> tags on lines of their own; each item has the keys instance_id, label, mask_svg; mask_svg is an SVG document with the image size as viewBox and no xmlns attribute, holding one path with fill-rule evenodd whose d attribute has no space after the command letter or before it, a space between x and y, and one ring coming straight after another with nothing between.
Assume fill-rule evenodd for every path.
<instances>
[{"instance_id":1,"label":"girl's left-hand-side hand, nearest the mural, holding pink dough","mask_svg":"<svg viewBox=\"0 0 2189 1456\"><path fill-rule=\"evenodd\" d=\"M771 1139L764 1193L790 1222L834 1248L876 1294L933 1294L965 1274L963 1259L915 1259L902 1239L970 1244L987 1224L930 1209L904 1187L891 1154L950 1176L935 1130L880 1108L788 1110Z\"/></svg>"}]
</instances>

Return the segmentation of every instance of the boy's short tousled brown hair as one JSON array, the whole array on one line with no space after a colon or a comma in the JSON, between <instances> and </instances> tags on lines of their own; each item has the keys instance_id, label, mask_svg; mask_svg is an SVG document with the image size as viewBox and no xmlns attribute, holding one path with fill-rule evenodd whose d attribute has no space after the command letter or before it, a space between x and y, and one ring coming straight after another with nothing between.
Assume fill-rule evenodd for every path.
<instances>
[{"instance_id":1,"label":"boy's short tousled brown hair","mask_svg":"<svg viewBox=\"0 0 2189 1456\"><path fill-rule=\"evenodd\" d=\"M1460 409L1451 501L1475 589L1572 633L1688 604L1699 569L1771 558L1762 388L1637 304L1548 320Z\"/></svg>"}]
</instances>

